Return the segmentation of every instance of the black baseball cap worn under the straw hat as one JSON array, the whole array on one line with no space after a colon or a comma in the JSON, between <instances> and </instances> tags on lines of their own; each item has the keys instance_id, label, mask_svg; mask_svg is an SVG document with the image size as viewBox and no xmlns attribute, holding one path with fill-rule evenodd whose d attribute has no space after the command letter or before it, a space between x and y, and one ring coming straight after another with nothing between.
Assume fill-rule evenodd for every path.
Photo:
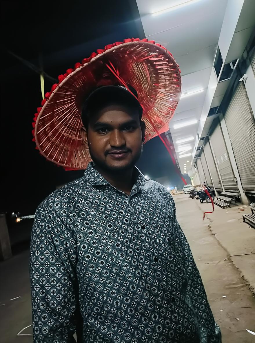
<instances>
[{"instance_id":1,"label":"black baseball cap worn under the straw hat","mask_svg":"<svg viewBox=\"0 0 255 343\"><path fill-rule=\"evenodd\" d=\"M137 91L134 87L128 85L129 90L136 96ZM120 104L128 107L136 108L138 110L140 119L142 118L142 107L136 97L130 93L123 85L100 86L93 90L86 98L83 108L81 119L83 125L86 126L89 116L93 115L96 111L100 110L108 104Z\"/></svg>"}]
</instances>

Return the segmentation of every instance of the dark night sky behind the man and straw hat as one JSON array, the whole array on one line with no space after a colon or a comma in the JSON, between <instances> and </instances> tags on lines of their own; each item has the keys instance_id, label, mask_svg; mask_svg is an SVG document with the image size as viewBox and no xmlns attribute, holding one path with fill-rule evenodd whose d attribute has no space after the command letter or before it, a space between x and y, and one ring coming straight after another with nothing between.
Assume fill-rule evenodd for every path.
<instances>
[{"instance_id":1,"label":"dark night sky behind the man and straw hat","mask_svg":"<svg viewBox=\"0 0 255 343\"><path fill-rule=\"evenodd\" d=\"M3 1L1 7L0 211L33 214L56 186L79 178L83 171L65 171L35 150L31 123L42 100L40 76L8 50L37 67L41 63L44 71L57 80L59 74L96 49L129 37L142 39L144 33L135 0L69 1L66 6L65 2L54 1ZM53 83L45 78L45 92ZM152 179L167 176L172 186L182 183L159 138L144 145L137 166Z\"/></svg>"}]
</instances>

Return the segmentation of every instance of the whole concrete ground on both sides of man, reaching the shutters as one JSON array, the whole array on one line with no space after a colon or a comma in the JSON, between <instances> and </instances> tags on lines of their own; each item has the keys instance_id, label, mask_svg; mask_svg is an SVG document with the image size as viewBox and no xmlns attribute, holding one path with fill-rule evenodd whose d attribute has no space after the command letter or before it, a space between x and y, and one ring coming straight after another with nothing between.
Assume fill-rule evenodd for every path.
<instances>
[{"instance_id":1,"label":"whole concrete ground on both sides of man, reaching the shutters","mask_svg":"<svg viewBox=\"0 0 255 343\"><path fill-rule=\"evenodd\" d=\"M242 214L249 209L242 207L245 211L241 211L240 206L236 206L222 210L216 206L215 212L203 221L203 212L210 210L211 204L200 204L184 194L174 196L174 200L178 221L201 273L212 312L221 327L222 342L254 342L255 336L246 331L255 332L255 298L251 291L254 287L255 230L242 223ZM247 253L249 255L245 255ZM0 306L0 337L3 343L33 341L31 327L21 333L26 336L17 336L32 324L28 256L26 250L0 263L0 305L3 305ZM224 260L226 258L228 260ZM15 297L21 298L10 300Z\"/></svg>"}]
</instances>

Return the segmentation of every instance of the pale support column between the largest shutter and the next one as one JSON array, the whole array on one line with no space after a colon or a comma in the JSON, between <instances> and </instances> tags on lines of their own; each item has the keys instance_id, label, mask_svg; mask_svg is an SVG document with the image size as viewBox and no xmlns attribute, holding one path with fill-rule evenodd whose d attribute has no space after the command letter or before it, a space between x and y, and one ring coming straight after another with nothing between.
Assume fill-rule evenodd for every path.
<instances>
[{"instance_id":1,"label":"pale support column between the largest shutter and the next one","mask_svg":"<svg viewBox=\"0 0 255 343\"><path fill-rule=\"evenodd\" d=\"M236 161L235 161L235 155L234 155L233 148L232 148L232 145L231 145L231 141L230 141L230 138L229 138L229 133L228 133L227 125L225 123L225 119L224 119L222 114L220 114L219 119L220 119L220 125L221 125L221 129L222 129L222 134L223 134L223 137L224 137L224 140L225 140L225 143L226 143L226 147L227 147L227 150L228 150L228 154L229 154L230 163L232 165L233 173L234 173L234 176L235 176L236 181L237 181L237 187L239 189L241 201L242 201L242 203L244 205L249 205L250 201L248 200L248 198L246 197L246 195L245 195L245 193L243 191L243 186L242 186L242 182L241 182L241 179L240 179L240 175L239 175L239 171L238 171L238 168L237 168L237 164L236 164Z\"/></svg>"}]
</instances>

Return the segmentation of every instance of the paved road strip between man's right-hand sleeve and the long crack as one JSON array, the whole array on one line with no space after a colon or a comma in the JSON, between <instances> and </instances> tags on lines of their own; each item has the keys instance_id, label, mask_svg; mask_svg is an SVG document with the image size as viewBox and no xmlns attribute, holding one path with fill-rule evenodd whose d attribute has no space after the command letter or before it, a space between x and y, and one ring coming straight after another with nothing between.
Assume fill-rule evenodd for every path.
<instances>
[{"instance_id":1,"label":"paved road strip between man's right-hand sleeve and the long crack","mask_svg":"<svg viewBox=\"0 0 255 343\"><path fill-rule=\"evenodd\" d=\"M228 253L211 233L208 225L213 224L208 219L202 220L203 208L208 210L211 205L200 204L184 194L175 196L174 200L178 222L189 242L212 312L221 328L222 343L254 343L255 336L246 329L255 332L255 299L231 260L224 261ZM216 210L210 217L218 216L218 213L221 212ZM243 308L246 306L251 308Z\"/></svg>"}]
</instances>

